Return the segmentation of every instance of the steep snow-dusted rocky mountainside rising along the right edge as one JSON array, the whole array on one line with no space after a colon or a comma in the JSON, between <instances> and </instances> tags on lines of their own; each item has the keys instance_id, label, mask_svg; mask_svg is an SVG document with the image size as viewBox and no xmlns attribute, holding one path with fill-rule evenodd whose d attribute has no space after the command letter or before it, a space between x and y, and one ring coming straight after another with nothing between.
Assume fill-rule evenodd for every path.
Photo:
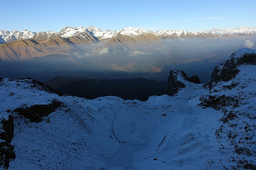
<instances>
[{"instance_id":1,"label":"steep snow-dusted rocky mountainside rising along the right edge","mask_svg":"<svg viewBox=\"0 0 256 170\"><path fill-rule=\"evenodd\" d=\"M227 162L232 162L231 165L223 162L225 169L256 169L256 116L254 106L249 104L255 96L255 52L242 48L217 65L211 80L204 84L209 93L199 98L199 106L223 113L222 125L215 135L221 144L220 154L228 153Z\"/></svg>"}]
</instances>

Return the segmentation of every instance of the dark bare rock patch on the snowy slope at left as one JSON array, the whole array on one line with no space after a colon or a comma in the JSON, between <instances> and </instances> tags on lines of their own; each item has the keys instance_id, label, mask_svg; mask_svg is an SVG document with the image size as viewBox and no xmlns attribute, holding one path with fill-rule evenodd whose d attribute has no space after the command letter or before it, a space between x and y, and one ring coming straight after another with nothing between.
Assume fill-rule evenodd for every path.
<instances>
[{"instance_id":1,"label":"dark bare rock patch on the snowy slope at left","mask_svg":"<svg viewBox=\"0 0 256 170\"><path fill-rule=\"evenodd\" d=\"M48 105L32 105L30 107L20 107L13 110L20 115L25 116L30 120L30 122L40 122L44 116L48 116L50 113L54 112L58 107L61 107L61 102L53 100Z\"/></svg>"}]
</instances>

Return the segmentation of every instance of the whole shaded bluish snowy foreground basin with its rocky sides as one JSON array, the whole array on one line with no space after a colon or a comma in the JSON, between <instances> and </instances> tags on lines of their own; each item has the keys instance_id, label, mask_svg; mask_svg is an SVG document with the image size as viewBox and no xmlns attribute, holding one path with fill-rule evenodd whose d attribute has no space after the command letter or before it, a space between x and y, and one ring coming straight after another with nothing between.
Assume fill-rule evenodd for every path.
<instances>
[{"instance_id":1,"label":"whole shaded bluish snowy foreground basin with its rocky sides","mask_svg":"<svg viewBox=\"0 0 256 170\"><path fill-rule=\"evenodd\" d=\"M256 169L255 60L240 49L206 84L174 70L178 92L145 102L2 78L1 169Z\"/></svg>"}]
</instances>

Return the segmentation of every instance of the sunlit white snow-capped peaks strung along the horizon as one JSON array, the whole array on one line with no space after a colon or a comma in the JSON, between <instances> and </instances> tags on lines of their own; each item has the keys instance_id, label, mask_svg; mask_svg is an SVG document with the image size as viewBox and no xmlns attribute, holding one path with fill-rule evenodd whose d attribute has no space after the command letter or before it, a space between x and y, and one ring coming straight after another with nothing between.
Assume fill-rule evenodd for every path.
<instances>
[{"instance_id":1,"label":"sunlit white snow-capped peaks strung along the horizon","mask_svg":"<svg viewBox=\"0 0 256 170\"><path fill-rule=\"evenodd\" d=\"M195 31L195 32L188 32L183 30L159 30L159 31L145 31L140 28L125 28L121 31L111 31L106 30L102 31L101 29L90 26L90 27L64 27L59 32L54 31L46 31L46 32L32 32L29 30L23 31L7 31L7 30L0 30L0 44L6 42L13 42L18 39L34 39L34 40L45 40L49 38L55 37L72 37L72 36L81 36L81 37L96 37L100 41L107 41L113 37L116 37L117 34L120 33L122 35L129 35L129 36L137 36L142 33L148 34L152 33L160 38L203 38L203 37L215 37L215 36L222 36L225 34L252 34L256 33L256 27L238 27L238 28L230 28L230 29L211 29L209 31Z\"/></svg>"}]
</instances>

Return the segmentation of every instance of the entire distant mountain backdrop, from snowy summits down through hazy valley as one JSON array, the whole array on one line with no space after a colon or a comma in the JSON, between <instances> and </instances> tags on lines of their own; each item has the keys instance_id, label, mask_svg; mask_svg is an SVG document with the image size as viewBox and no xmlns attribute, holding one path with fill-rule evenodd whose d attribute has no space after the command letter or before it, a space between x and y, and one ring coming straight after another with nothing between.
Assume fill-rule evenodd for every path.
<instances>
[{"instance_id":1,"label":"entire distant mountain backdrop, from snowy summits down through hazy valley","mask_svg":"<svg viewBox=\"0 0 256 170\"><path fill-rule=\"evenodd\" d=\"M255 48L256 27L208 32L64 27L59 32L0 31L0 42L0 58L7 61L0 62L3 77L26 73L45 82L56 76L109 79L129 73L126 78L163 81L170 69L182 69L206 82L214 67L210 63L217 64L239 48Z\"/></svg>"}]
</instances>

